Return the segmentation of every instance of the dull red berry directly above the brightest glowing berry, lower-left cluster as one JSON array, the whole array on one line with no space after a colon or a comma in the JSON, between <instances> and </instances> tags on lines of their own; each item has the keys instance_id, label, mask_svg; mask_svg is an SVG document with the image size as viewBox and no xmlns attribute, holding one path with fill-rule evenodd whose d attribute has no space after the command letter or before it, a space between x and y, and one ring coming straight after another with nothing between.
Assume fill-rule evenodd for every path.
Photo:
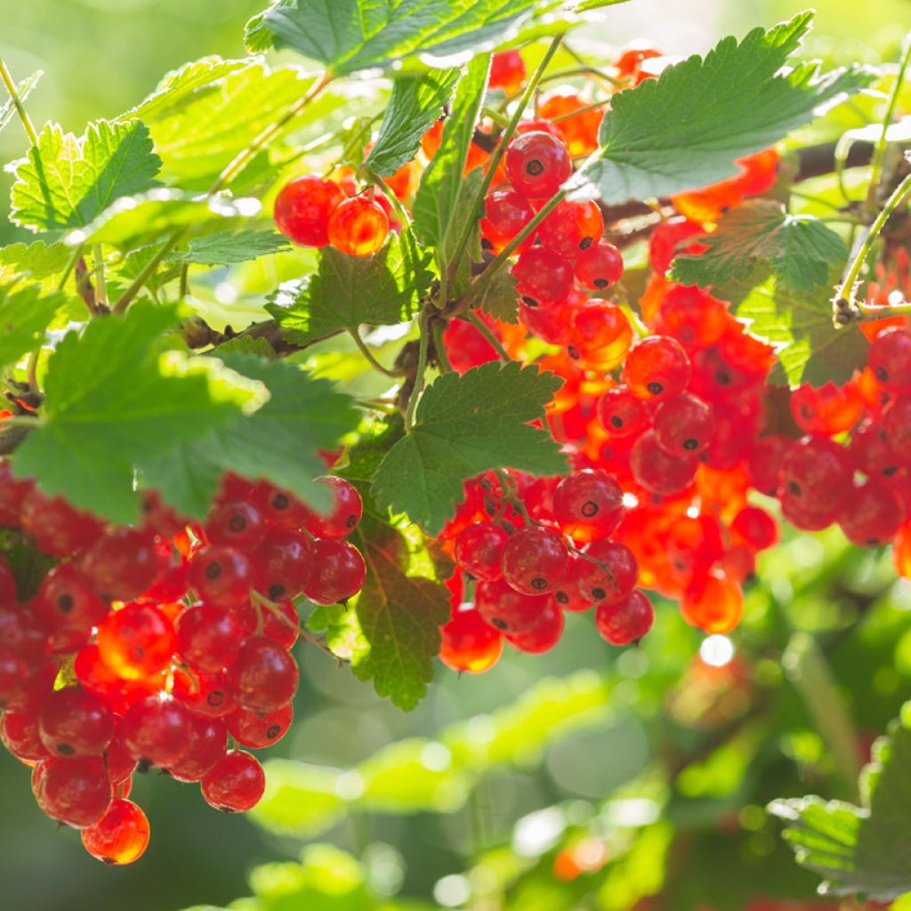
<instances>
[{"instance_id":1,"label":"dull red berry directly above the brightest glowing berry, lower-left cluster","mask_svg":"<svg viewBox=\"0 0 911 911\"><path fill-rule=\"evenodd\" d=\"M158 574L155 538L138 528L108 528L79 565L103 599L128 601L148 589Z\"/></svg>"}]
</instances>

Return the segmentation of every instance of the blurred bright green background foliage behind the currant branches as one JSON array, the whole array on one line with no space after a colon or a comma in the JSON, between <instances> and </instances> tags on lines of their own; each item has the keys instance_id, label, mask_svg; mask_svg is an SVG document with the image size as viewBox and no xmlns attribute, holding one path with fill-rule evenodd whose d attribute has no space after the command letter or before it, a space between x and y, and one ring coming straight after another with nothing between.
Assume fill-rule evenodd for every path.
<instances>
[{"instance_id":1,"label":"blurred bright green background foliage behind the currant branches","mask_svg":"<svg viewBox=\"0 0 911 911\"><path fill-rule=\"evenodd\" d=\"M0 56L17 77L45 71L28 102L36 123L81 132L189 59L241 56L243 23L262 5L9 0ZM834 62L894 57L911 27L909 0L867 0L863 15L851 0L814 5L808 51ZM577 43L645 38L683 54L799 8L633 0ZM24 148L15 127L0 137L4 162ZM4 174L0 208L8 187ZM19 239L0 223L0 242ZM254 271L244 286L261 294L273 279ZM333 356L322 359L330 372ZM338 359L346 379L350 363ZM674 900L656 908L737 911L761 891L809 898L816 880L763 807L811 792L855 797L865 748L911 694L911 586L887 556L848 549L837 531L794 537L760 578L732 640L704 640L664 603L642 648L618 651L589 617L568 615L548 655L512 653L480 677L440 669L407 715L301 647L297 721L270 751L281 758L261 808L222 818L187 789L140 777L153 839L125 869L95 864L76 833L56 832L4 752L4 906L177 911L252 896L236 907L625 911L663 889Z\"/></svg>"}]
</instances>

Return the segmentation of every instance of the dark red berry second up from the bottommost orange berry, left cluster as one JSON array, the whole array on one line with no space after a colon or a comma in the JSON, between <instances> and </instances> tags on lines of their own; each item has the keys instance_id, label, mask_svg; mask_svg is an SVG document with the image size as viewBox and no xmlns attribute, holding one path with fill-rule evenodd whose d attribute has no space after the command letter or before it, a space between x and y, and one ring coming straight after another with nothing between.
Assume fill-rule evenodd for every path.
<instances>
[{"instance_id":1,"label":"dark red berry second up from the bottommost orange berry, left cluster","mask_svg":"<svg viewBox=\"0 0 911 911\"><path fill-rule=\"evenodd\" d=\"M38 732L54 756L100 756L114 735L114 716L94 693L68 686L42 703Z\"/></svg>"}]
</instances>

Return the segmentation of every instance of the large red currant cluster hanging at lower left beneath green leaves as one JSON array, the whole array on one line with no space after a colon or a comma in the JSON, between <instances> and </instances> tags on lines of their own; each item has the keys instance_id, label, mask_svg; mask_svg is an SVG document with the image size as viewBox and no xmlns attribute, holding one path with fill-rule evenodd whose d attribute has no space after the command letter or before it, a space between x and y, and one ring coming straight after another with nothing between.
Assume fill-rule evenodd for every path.
<instances>
[{"instance_id":1,"label":"large red currant cluster hanging at lower left beneath green leaves","mask_svg":"<svg viewBox=\"0 0 911 911\"><path fill-rule=\"evenodd\" d=\"M199 525L150 493L141 525L106 526L0 462L0 527L55 561L21 603L0 557L0 740L32 766L38 806L82 830L91 855L128 864L145 851L148 820L128 800L137 770L200 783L226 813L260 800L247 751L292 722L292 599L334 604L363 586L345 540L361 498L341 478L320 483L328 514L224 476Z\"/></svg>"}]
</instances>

